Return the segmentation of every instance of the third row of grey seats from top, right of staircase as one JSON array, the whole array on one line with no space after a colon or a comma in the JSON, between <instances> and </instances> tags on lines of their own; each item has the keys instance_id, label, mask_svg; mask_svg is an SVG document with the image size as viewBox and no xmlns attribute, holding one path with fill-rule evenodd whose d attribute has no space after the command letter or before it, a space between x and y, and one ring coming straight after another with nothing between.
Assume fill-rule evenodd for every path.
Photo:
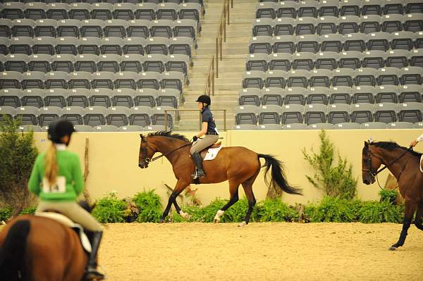
<instances>
[{"instance_id":1,"label":"third row of grey seats from top, right of staircase","mask_svg":"<svg viewBox=\"0 0 423 281\"><path fill-rule=\"evenodd\" d=\"M294 51L388 51L388 49L423 48L423 32L377 32L365 35L352 33L348 35L281 35L276 37L257 36L250 39L248 49L255 53L290 53Z\"/></svg>"}]
</instances>

